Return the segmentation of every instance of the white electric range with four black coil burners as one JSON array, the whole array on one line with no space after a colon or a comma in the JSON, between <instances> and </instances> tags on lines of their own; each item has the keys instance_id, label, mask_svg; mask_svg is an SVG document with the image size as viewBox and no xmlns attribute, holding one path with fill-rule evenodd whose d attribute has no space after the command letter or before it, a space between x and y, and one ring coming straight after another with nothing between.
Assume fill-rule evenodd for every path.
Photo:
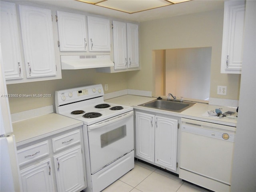
<instances>
[{"instance_id":1,"label":"white electric range with four black coil burners","mask_svg":"<svg viewBox=\"0 0 256 192\"><path fill-rule=\"evenodd\" d=\"M98 192L134 168L133 108L104 102L101 84L59 90L56 112L84 123L88 188Z\"/></svg>"}]
</instances>

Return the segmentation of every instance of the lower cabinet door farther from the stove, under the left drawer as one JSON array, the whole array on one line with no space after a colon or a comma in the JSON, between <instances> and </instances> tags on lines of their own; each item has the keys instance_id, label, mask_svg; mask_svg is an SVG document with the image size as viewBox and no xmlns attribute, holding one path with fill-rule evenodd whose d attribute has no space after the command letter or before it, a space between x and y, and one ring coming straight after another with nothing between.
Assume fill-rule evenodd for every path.
<instances>
[{"instance_id":1,"label":"lower cabinet door farther from the stove, under the left drawer","mask_svg":"<svg viewBox=\"0 0 256 192\"><path fill-rule=\"evenodd\" d=\"M50 158L20 170L22 189L26 192L54 191Z\"/></svg>"}]
</instances>

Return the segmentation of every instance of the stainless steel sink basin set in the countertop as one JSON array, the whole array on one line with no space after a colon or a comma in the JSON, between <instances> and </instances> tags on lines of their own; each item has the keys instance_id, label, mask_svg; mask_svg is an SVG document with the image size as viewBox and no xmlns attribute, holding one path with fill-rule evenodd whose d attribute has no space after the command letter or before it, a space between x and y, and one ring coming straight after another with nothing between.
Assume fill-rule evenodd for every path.
<instances>
[{"instance_id":1,"label":"stainless steel sink basin set in the countertop","mask_svg":"<svg viewBox=\"0 0 256 192\"><path fill-rule=\"evenodd\" d=\"M149 108L155 108L155 109L161 109L161 110L167 110L167 111L173 111L173 112L182 112L193 105L195 105L195 102L180 102L180 101L174 101L174 100L153 100L144 104L140 104L139 106L143 107L149 107Z\"/></svg>"}]
</instances>

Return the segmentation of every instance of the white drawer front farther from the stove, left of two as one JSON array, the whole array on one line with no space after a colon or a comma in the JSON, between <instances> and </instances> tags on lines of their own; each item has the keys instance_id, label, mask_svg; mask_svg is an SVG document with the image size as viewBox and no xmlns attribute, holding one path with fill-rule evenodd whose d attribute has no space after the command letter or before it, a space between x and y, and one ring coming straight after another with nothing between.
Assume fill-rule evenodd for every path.
<instances>
[{"instance_id":1,"label":"white drawer front farther from the stove, left of two","mask_svg":"<svg viewBox=\"0 0 256 192\"><path fill-rule=\"evenodd\" d=\"M19 166L49 155L48 141L17 150Z\"/></svg>"}]
</instances>

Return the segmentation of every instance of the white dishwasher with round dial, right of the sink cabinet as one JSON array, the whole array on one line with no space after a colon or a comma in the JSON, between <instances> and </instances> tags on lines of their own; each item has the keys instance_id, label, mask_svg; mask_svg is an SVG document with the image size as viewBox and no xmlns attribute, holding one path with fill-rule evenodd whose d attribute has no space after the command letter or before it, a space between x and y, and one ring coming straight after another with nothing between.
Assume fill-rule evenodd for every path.
<instances>
[{"instance_id":1,"label":"white dishwasher with round dial, right of the sink cabinet","mask_svg":"<svg viewBox=\"0 0 256 192\"><path fill-rule=\"evenodd\" d=\"M213 191L230 191L235 130L182 118L179 177Z\"/></svg>"}]
</instances>

